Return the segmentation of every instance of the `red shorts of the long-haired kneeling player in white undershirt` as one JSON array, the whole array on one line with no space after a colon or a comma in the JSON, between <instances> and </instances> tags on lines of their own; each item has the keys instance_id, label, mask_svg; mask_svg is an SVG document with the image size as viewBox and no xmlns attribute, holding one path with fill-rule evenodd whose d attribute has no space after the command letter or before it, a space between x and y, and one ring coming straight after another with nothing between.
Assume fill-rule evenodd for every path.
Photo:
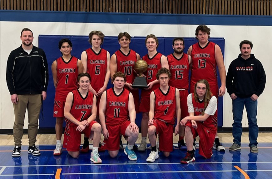
<instances>
[{"instance_id":1,"label":"red shorts of the long-haired kneeling player in white undershirt","mask_svg":"<svg viewBox=\"0 0 272 179\"><path fill-rule=\"evenodd\" d=\"M212 155L212 148L215 141L215 132L210 132L206 129L201 122L196 122L197 128L192 127L191 121L188 121L185 125L190 127L194 138L199 136L199 154L205 158L210 158Z\"/></svg>"}]
</instances>

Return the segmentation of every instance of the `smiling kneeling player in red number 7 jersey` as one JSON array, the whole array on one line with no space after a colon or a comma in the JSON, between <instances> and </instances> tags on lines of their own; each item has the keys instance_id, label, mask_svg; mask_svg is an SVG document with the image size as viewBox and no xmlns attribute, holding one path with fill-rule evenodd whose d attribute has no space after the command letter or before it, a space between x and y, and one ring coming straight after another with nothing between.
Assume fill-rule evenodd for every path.
<instances>
[{"instance_id":1,"label":"smiling kneeling player in red number 7 jersey","mask_svg":"<svg viewBox=\"0 0 272 179\"><path fill-rule=\"evenodd\" d=\"M88 73L80 73L77 77L79 89L69 92L64 107L66 127L63 146L74 158L79 155L81 133L93 139L91 161L101 163L98 146L101 139L101 125L96 118L96 96L89 91L91 77Z\"/></svg>"}]
</instances>

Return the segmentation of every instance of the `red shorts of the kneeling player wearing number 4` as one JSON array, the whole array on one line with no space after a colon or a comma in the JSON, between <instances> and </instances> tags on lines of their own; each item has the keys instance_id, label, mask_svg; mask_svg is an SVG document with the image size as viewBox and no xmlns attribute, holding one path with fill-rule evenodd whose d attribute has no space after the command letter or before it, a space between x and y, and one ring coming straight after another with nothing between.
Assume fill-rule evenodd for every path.
<instances>
[{"instance_id":1,"label":"red shorts of the kneeling player wearing number 4","mask_svg":"<svg viewBox=\"0 0 272 179\"><path fill-rule=\"evenodd\" d=\"M173 125L166 124L163 121L153 119L153 125L156 127L156 133L160 134L160 151L173 151Z\"/></svg>"}]
</instances>

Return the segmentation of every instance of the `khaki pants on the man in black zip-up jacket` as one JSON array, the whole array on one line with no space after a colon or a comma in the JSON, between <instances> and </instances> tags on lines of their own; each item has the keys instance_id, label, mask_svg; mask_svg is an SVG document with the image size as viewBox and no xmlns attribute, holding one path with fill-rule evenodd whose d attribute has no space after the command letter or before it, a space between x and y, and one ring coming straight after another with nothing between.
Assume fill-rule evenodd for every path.
<instances>
[{"instance_id":1,"label":"khaki pants on the man in black zip-up jacket","mask_svg":"<svg viewBox=\"0 0 272 179\"><path fill-rule=\"evenodd\" d=\"M13 136L15 146L22 145L23 127L26 109L28 113L28 143L32 146L36 142L38 132L38 119L42 106L41 94L18 95L17 104L13 103L15 121L13 125Z\"/></svg>"}]
</instances>

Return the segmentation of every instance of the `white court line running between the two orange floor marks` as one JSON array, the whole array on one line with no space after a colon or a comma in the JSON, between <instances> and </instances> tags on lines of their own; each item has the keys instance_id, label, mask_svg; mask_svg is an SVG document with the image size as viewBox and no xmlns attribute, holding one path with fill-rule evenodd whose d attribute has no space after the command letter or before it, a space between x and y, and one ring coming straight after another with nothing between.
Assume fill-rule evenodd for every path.
<instances>
[{"instance_id":1,"label":"white court line running between the two orange floor marks","mask_svg":"<svg viewBox=\"0 0 272 179\"><path fill-rule=\"evenodd\" d=\"M62 173L62 175L97 175L97 174L129 174L129 173L197 173L197 172L239 172L238 170L211 170L211 171L157 171L157 172L98 172L98 173Z\"/></svg>"}]
</instances>

